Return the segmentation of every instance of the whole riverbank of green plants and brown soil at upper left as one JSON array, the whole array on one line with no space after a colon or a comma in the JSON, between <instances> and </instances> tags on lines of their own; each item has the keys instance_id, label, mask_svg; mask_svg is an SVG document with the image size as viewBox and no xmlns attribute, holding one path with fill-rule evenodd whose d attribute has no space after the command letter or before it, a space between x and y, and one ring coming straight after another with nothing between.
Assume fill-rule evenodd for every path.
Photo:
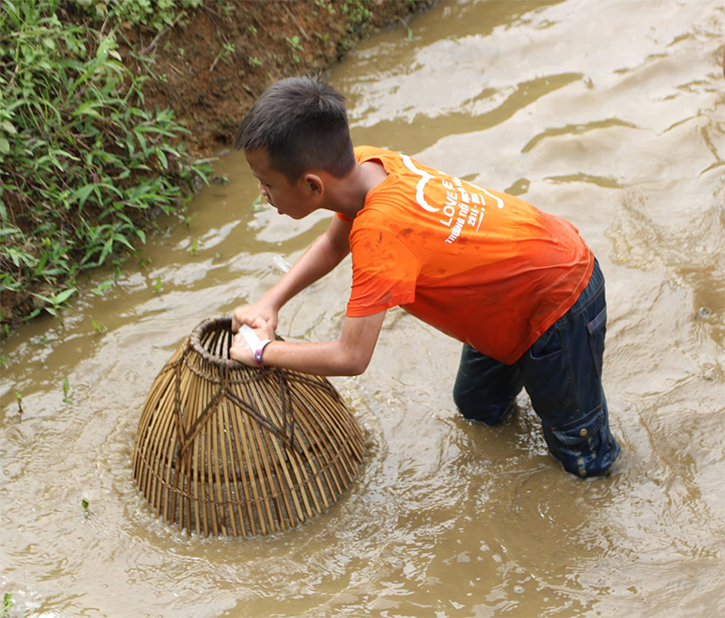
<instances>
[{"instance_id":1,"label":"whole riverbank of green plants and brown soil at upper left","mask_svg":"<svg viewBox=\"0 0 725 618\"><path fill-rule=\"evenodd\" d=\"M160 212L183 221L268 85L432 4L31 0L0 16L0 338L58 314L83 270L119 268Z\"/></svg>"}]
</instances>

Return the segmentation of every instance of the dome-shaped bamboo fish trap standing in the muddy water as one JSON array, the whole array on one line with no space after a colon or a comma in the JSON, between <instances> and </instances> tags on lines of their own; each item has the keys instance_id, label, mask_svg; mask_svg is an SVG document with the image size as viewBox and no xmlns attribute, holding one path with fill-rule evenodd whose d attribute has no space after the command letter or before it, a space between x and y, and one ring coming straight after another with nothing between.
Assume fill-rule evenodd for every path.
<instances>
[{"instance_id":1,"label":"dome-shaped bamboo fish trap standing in the muddy water","mask_svg":"<svg viewBox=\"0 0 725 618\"><path fill-rule=\"evenodd\" d=\"M133 475L150 510L198 535L267 535L330 507L362 432L324 378L229 358L231 318L200 323L151 386Z\"/></svg>"}]
</instances>

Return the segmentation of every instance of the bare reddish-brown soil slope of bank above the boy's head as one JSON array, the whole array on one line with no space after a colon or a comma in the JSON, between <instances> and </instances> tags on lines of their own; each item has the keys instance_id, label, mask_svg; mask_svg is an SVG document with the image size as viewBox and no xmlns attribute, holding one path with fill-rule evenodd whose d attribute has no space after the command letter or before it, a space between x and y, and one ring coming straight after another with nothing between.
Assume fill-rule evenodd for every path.
<instances>
[{"instance_id":1,"label":"bare reddish-brown soil slope of bank above the boy's head","mask_svg":"<svg viewBox=\"0 0 725 618\"><path fill-rule=\"evenodd\" d=\"M256 97L290 75L324 72L360 39L403 25L434 0L247 0L227 14L206 5L185 27L155 40L147 104L170 107L189 121L189 146L199 153L229 144Z\"/></svg>"}]
</instances>

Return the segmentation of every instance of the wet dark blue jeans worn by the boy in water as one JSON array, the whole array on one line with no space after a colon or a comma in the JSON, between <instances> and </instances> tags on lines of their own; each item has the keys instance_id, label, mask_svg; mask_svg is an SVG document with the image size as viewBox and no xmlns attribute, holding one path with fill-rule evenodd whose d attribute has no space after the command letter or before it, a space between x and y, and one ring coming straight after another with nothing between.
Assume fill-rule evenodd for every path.
<instances>
[{"instance_id":1,"label":"wet dark blue jeans worn by the boy in water","mask_svg":"<svg viewBox=\"0 0 725 618\"><path fill-rule=\"evenodd\" d=\"M467 419L495 425L511 415L525 388L554 458L577 476L603 475L620 451L602 388L605 333L604 275L594 260L574 306L514 364L464 345L453 399Z\"/></svg>"}]
</instances>

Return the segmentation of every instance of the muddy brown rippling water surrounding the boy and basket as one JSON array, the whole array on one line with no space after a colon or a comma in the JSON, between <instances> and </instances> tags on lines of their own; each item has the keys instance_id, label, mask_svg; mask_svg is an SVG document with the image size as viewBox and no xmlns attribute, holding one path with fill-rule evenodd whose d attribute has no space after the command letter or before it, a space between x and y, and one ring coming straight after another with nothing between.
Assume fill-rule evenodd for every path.
<instances>
[{"instance_id":1,"label":"muddy brown rippling water surrounding the boy and basket","mask_svg":"<svg viewBox=\"0 0 725 618\"><path fill-rule=\"evenodd\" d=\"M610 478L558 468L525 397L504 427L461 420L459 345L394 310L368 372L334 380L369 444L337 505L247 540L151 518L131 482L151 381L201 319L256 300L325 225L253 208L233 153L218 161L230 183L195 199L189 227L151 238L104 296L90 290L111 273L83 281L63 325L4 343L10 615L725 612L724 36L721 0L441 2L332 74L356 143L521 195L594 248L623 446ZM280 331L336 336L349 283L345 263L285 307Z\"/></svg>"}]
</instances>

